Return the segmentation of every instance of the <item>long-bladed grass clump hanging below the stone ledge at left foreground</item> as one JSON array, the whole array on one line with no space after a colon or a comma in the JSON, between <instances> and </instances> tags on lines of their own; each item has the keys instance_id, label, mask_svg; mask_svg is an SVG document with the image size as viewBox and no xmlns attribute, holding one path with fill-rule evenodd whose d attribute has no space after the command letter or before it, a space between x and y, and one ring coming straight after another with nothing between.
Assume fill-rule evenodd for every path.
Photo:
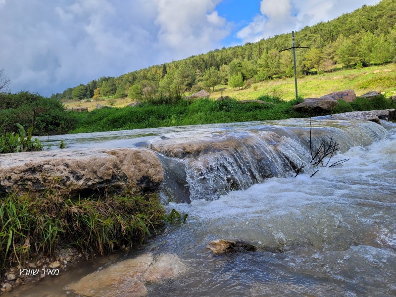
<instances>
[{"instance_id":1,"label":"long-bladed grass clump hanging below the stone ledge at left foreground","mask_svg":"<svg viewBox=\"0 0 396 297\"><path fill-rule=\"evenodd\" d=\"M157 194L126 190L120 196L64 198L48 191L44 197L0 196L0 270L38 253L50 255L59 246L104 254L140 243L163 224Z\"/></svg>"}]
</instances>

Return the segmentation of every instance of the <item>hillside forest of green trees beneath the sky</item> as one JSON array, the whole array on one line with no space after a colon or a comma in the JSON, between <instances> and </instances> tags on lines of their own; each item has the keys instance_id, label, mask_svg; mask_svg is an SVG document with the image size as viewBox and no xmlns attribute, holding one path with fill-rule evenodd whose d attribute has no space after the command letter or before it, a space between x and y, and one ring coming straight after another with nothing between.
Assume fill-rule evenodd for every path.
<instances>
[{"instance_id":1,"label":"hillside forest of green trees beneath the sky","mask_svg":"<svg viewBox=\"0 0 396 297\"><path fill-rule=\"evenodd\" d=\"M336 64L365 67L396 62L396 0L363 5L329 22L296 32L299 75L333 71ZM181 45L182 46L182 45ZM186 92L210 89L218 84L249 86L258 81L294 75L291 34L277 35L244 46L215 49L180 61L155 65L114 77L101 77L87 85L69 88L55 99L130 97L173 90Z\"/></svg>"}]
</instances>

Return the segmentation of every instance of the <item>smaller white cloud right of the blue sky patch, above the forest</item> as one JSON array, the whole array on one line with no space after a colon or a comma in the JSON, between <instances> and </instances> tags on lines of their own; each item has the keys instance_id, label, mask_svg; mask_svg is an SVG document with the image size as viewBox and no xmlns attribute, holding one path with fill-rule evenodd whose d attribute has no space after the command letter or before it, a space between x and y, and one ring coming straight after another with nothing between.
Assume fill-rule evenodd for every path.
<instances>
[{"instance_id":1,"label":"smaller white cloud right of the blue sky patch, above the forest","mask_svg":"<svg viewBox=\"0 0 396 297\"><path fill-rule=\"evenodd\" d=\"M373 5L379 0L365 0ZM261 14L237 33L243 42L255 42L276 34L299 30L321 21L328 21L351 12L362 0L261 0Z\"/></svg>"}]
</instances>

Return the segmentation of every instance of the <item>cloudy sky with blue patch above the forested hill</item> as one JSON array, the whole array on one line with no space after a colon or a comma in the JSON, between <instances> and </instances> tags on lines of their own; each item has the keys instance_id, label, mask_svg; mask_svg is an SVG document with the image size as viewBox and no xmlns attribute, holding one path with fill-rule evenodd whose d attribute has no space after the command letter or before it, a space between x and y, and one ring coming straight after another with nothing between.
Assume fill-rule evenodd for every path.
<instances>
[{"instance_id":1,"label":"cloudy sky with blue patch above the forested hill","mask_svg":"<svg viewBox=\"0 0 396 297\"><path fill-rule=\"evenodd\" d=\"M256 42L379 0L0 0L0 69L43 96Z\"/></svg>"}]
</instances>

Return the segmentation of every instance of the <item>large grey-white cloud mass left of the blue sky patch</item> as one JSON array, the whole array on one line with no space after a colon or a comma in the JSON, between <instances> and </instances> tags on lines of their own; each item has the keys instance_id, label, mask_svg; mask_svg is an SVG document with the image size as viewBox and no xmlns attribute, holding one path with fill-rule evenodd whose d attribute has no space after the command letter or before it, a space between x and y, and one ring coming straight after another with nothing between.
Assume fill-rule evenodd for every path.
<instances>
[{"instance_id":1,"label":"large grey-white cloud mass left of the blue sky patch","mask_svg":"<svg viewBox=\"0 0 396 297\"><path fill-rule=\"evenodd\" d=\"M206 52L229 34L220 1L0 0L0 68L12 92L49 96Z\"/></svg>"}]
</instances>

